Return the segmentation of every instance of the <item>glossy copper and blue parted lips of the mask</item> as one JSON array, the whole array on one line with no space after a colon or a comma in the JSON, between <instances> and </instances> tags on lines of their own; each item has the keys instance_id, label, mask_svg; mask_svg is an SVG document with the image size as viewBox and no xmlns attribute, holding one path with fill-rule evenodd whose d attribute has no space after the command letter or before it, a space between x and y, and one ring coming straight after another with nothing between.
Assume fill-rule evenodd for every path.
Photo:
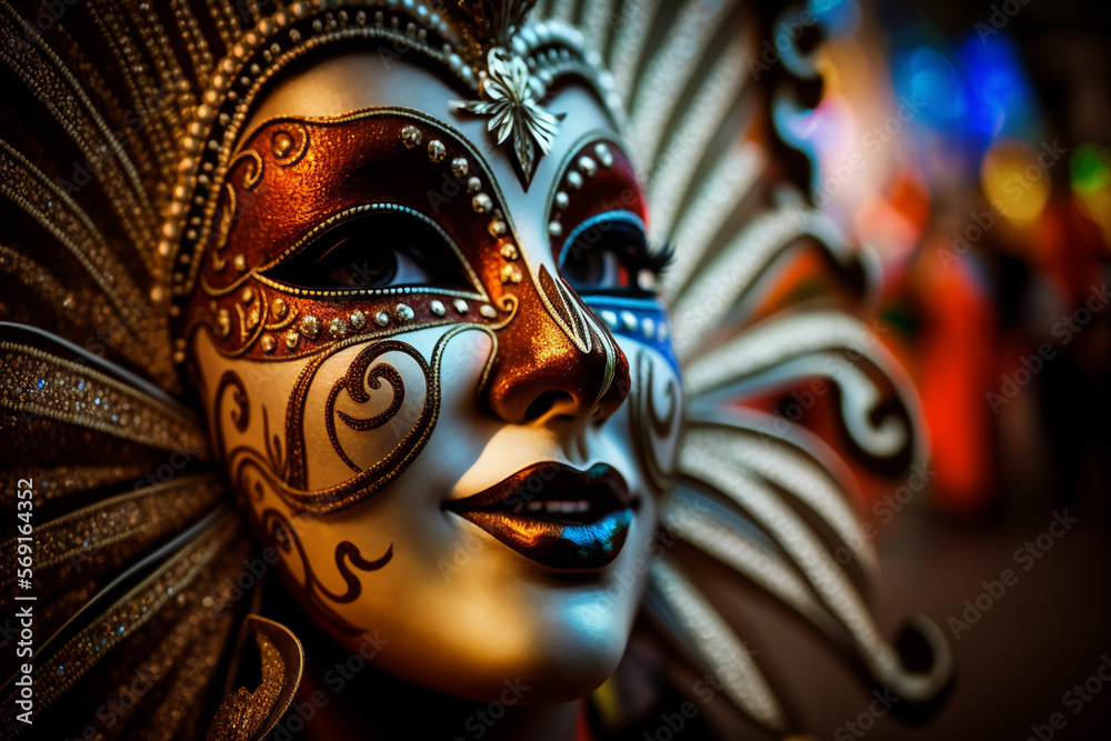
<instances>
[{"instance_id":1,"label":"glossy copper and blue parted lips of the mask","mask_svg":"<svg viewBox=\"0 0 1111 741\"><path fill-rule=\"evenodd\" d=\"M637 501L605 463L536 463L444 509L554 569L599 569L624 545Z\"/></svg>"}]
</instances>

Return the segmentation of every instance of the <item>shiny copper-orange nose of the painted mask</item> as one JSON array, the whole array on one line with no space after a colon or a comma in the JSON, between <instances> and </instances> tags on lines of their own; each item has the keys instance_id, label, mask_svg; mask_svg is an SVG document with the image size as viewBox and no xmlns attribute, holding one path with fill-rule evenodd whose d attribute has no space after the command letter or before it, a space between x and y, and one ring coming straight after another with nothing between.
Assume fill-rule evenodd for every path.
<instances>
[{"instance_id":1,"label":"shiny copper-orange nose of the painted mask","mask_svg":"<svg viewBox=\"0 0 1111 741\"><path fill-rule=\"evenodd\" d=\"M537 291L518 296L517 316L498 332L487 401L502 420L602 421L629 395L629 361L609 330L541 266Z\"/></svg>"}]
</instances>

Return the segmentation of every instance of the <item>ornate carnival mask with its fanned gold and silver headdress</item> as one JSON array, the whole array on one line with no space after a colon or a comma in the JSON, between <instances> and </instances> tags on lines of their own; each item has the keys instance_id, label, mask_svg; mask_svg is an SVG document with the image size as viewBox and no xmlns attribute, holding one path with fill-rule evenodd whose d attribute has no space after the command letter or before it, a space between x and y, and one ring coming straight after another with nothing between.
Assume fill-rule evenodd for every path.
<instances>
[{"instance_id":1,"label":"ornate carnival mask with its fanned gold and silver headdress","mask_svg":"<svg viewBox=\"0 0 1111 741\"><path fill-rule=\"evenodd\" d=\"M884 639L851 501L924 460L914 397L751 118L744 3L54 4L0 1L0 478L41 605L0 735L24 679L40 735L292 733L369 639L407 691L610 680L632 737L670 687L785 737L741 581L935 707L944 637Z\"/></svg>"}]
</instances>

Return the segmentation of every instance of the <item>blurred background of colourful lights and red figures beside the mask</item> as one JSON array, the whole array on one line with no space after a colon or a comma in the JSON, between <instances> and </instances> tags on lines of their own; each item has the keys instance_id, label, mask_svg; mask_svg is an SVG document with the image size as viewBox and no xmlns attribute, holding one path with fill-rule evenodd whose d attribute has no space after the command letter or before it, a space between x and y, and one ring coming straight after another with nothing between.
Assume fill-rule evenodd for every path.
<instances>
[{"instance_id":1,"label":"blurred background of colourful lights and red figures beside the mask","mask_svg":"<svg viewBox=\"0 0 1111 741\"><path fill-rule=\"evenodd\" d=\"M765 4L769 41L818 19L817 76L777 91L773 122L813 202L878 252L880 336L929 427L929 485L869 491L880 615L928 614L958 667L909 728L792 633L800 713L839 740L1111 738L1108 6Z\"/></svg>"}]
</instances>

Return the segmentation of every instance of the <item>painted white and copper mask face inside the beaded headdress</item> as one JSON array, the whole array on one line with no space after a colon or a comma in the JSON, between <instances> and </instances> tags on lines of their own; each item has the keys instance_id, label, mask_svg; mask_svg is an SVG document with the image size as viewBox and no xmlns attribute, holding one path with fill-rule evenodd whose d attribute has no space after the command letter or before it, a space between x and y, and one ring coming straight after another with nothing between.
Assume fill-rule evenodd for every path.
<instances>
[{"instance_id":1,"label":"painted white and copper mask face inside the beaded headdress","mask_svg":"<svg viewBox=\"0 0 1111 741\"><path fill-rule=\"evenodd\" d=\"M377 53L260 102L211 218L189 350L213 440L292 594L438 691L579 697L634 618L682 399L644 198L567 87L512 140Z\"/></svg>"}]
</instances>

